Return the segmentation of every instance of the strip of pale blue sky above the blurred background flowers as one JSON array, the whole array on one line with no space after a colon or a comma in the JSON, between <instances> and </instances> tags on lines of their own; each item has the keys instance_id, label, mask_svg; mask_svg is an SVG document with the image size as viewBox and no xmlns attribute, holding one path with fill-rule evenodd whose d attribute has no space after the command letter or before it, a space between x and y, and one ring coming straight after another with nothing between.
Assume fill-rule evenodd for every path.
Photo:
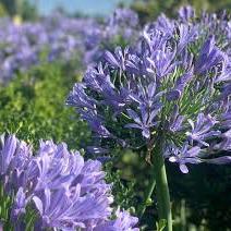
<instances>
[{"instance_id":1,"label":"strip of pale blue sky above the blurred background flowers","mask_svg":"<svg viewBox=\"0 0 231 231\"><path fill-rule=\"evenodd\" d=\"M31 0L38 2L39 11L49 14L56 7L62 5L68 12L80 11L87 14L109 14L121 0ZM132 0L123 0L130 3Z\"/></svg>"}]
</instances>

